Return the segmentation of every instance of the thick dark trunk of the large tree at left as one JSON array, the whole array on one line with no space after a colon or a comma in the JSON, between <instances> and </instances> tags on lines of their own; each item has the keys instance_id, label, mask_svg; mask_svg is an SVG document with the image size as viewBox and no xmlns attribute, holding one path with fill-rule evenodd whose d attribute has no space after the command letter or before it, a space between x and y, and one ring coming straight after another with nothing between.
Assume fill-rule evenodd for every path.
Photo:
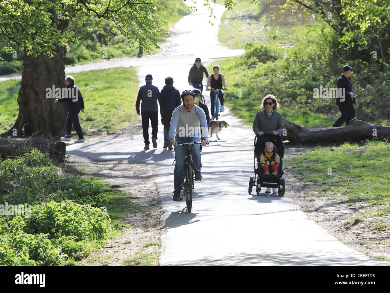
<instances>
[{"instance_id":1,"label":"thick dark trunk of the large tree at left","mask_svg":"<svg viewBox=\"0 0 390 293\"><path fill-rule=\"evenodd\" d=\"M53 58L26 54L18 94L19 114L11 129L0 137L53 139L64 132L65 105L54 104L54 99L46 98L47 88L65 87L64 49L56 46L55 51Z\"/></svg>"}]
</instances>

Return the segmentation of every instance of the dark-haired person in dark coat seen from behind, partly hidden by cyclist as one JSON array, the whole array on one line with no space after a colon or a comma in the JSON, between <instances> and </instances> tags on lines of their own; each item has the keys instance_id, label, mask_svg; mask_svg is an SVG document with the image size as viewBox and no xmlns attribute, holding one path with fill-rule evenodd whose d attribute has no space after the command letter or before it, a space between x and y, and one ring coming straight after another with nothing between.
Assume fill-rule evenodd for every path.
<instances>
[{"instance_id":1,"label":"dark-haired person in dark coat seen from behind, partly hidden by cyclist","mask_svg":"<svg viewBox=\"0 0 390 293\"><path fill-rule=\"evenodd\" d=\"M169 145L169 125L172 118L172 113L176 107L181 105L181 95L179 90L173 86L173 78L168 76L165 78L165 86L160 93L160 114L161 124L164 125L164 146L173 150L173 147ZM169 146L168 146L169 145Z\"/></svg>"}]
</instances>

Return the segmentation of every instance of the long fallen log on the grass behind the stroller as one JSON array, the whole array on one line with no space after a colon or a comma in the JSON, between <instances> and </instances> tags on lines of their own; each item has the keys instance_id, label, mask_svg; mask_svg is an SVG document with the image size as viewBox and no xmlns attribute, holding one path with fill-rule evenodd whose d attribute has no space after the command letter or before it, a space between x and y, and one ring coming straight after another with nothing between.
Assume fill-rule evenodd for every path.
<instances>
[{"instance_id":1,"label":"long fallen log on the grass behind the stroller","mask_svg":"<svg viewBox=\"0 0 390 293\"><path fill-rule=\"evenodd\" d=\"M282 138L293 143L329 143L390 137L390 126L365 123L356 117L344 127L318 129L307 129L285 118L283 122L286 135L282 135Z\"/></svg>"}]
</instances>

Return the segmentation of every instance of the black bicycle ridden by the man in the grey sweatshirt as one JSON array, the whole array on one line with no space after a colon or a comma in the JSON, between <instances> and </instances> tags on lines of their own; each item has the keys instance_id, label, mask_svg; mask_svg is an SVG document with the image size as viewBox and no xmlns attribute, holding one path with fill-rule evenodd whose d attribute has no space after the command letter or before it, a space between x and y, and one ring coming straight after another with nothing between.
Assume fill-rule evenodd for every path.
<instances>
[{"instance_id":1,"label":"black bicycle ridden by the man in the grey sweatshirt","mask_svg":"<svg viewBox=\"0 0 390 293\"><path fill-rule=\"evenodd\" d=\"M183 196L186 198L186 205L188 213L191 213L192 210L192 191L194 190L195 182L195 170L192 163L192 154L191 146L192 145L202 145L202 143L191 142L191 143L177 143L177 146L187 145L187 154L184 159L184 171L183 171L183 182L181 184L181 189L183 193L180 194L180 198L183 199Z\"/></svg>"}]
</instances>

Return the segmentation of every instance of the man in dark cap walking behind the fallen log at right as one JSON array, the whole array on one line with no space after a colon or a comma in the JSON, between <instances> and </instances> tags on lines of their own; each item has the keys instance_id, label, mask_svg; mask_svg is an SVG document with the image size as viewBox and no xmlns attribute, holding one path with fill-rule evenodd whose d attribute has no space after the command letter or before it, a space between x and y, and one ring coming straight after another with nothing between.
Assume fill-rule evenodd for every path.
<instances>
[{"instance_id":1,"label":"man in dark cap walking behind the fallen log at right","mask_svg":"<svg viewBox=\"0 0 390 293\"><path fill-rule=\"evenodd\" d=\"M336 97L336 104L339 106L341 116L337 118L332 127L340 127L344 122L348 125L349 121L355 118L355 107L353 104L356 103L356 94L353 92L351 78L349 77L352 71L353 69L350 66L344 66L342 74L337 81L339 97ZM340 97L341 93L344 93L344 97Z\"/></svg>"}]
</instances>

